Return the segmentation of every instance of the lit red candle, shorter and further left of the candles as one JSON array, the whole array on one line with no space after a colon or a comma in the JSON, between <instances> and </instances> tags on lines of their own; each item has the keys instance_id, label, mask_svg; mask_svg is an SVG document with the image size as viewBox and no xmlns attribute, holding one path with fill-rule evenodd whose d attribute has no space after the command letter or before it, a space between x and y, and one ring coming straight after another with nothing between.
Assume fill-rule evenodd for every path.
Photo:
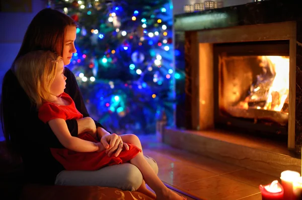
<instances>
[{"instance_id":1,"label":"lit red candle, shorter and further left of the candles","mask_svg":"<svg viewBox=\"0 0 302 200\"><path fill-rule=\"evenodd\" d=\"M274 180L268 185L259 185L259 188L262 200L283 200L283 187L278 180Z\"/></svg>"}]
</instances>

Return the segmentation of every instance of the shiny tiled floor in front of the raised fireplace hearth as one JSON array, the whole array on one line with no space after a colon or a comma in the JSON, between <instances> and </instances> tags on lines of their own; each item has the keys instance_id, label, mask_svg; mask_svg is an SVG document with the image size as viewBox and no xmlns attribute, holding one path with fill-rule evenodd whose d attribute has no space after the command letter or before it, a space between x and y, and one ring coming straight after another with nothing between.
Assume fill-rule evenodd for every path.
<instances>
[{"instance_id":1,"label":"shiny tiled floor in front of the raised fireplace hearth","mask_svg":"<svg viewBox=\"0 0 302 200\"><path fill-rule=\"evenodd\" d=\"M143 153L157 161L159 177L200 199L261 200L259 185L279 180L268 174L172 148L156 142L152 136L140 139Z\"/></svg>"}]
</instances>

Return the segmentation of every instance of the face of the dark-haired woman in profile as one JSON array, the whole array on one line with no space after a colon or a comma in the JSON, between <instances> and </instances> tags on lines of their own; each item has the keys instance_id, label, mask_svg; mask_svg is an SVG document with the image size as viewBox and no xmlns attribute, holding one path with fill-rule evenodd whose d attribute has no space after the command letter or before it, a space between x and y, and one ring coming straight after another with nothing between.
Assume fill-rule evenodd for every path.
<instances>
[{"instance_id":1,"label":"face of the dark-haired woman in profile","mask_svg":"<svg viewBox=\"0 0 302 200\"><path fill-rule=\"evenodd\" d=\"M74 47L74 41L76 37L77 37L77 28L73 26L67 26L65 30L63 56L62 56L64 65L68 65L70 63L72 54L77 52L77 50Z\"/></svg>"}]
</instances>

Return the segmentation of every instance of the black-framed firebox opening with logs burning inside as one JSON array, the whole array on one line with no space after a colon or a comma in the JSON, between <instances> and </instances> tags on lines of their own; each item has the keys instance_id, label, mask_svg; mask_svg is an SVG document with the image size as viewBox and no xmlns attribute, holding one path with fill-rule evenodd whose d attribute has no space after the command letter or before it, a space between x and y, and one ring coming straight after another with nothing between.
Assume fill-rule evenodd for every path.
<instances>
[{"instance_id":1,"label":"black-framed firebox opening with logs burning inside","mask_svg":"<svg viewBox=\"0 0 302 200\"><path fill-rule=\"evenodd\" d=\"M215 128L287 134L289 41L215 44Z\"/></svg>"}]
</instances>

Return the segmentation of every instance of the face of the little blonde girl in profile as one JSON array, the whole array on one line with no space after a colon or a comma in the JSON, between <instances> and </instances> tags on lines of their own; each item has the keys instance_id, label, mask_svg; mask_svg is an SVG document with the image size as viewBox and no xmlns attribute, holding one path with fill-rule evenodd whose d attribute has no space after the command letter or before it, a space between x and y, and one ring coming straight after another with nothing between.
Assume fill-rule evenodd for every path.
<instances>
[{"instance_id":1,"label":"face of the little blonde girl in profile","mask_svg":"<svg viewBox=\"0 0 302 200\"><path fill-rule=\"evenodd\" d=\"M59 96L64 92L66 85L66 77L64 76L64 63L60 61L57 66L55 78L50 86L50 93L54 96Z\"/></svg>"}]
</instances>

